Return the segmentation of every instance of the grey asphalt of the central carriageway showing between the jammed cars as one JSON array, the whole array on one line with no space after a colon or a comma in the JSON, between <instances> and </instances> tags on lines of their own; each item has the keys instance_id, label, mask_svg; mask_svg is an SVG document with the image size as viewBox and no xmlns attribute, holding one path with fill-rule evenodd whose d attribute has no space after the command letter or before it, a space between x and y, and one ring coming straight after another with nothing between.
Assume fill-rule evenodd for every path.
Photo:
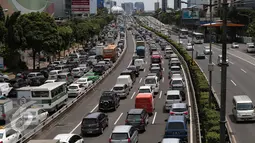
<instances>
[{"instance_id":1,"label":"grey asphalt of the central carriageway showing between the jammed cars","mask_svg":"<svg viewBox=\"0 0 255 143\"><path fill-rule=\"evenodd\" d=\"M130 32L127 34L127 51L120 64L116 69L105 78L103 82L93 92L90 92L82 101L74 108L70 109L62 118L52 123L48 128L43 130L34 139L52 139L57 134L75 133L80 134L80 124L82 118L90 113L98 110L98 102L101 93L105 90L111 90L116 83L117 77L131 63L134 53L135 40ZM107 142L115 125L125 124L125 118L129 109L134 108L135 96L138 88L143 85L145 76L149 73L150 56L149 51L146 51L146 65L144 72L140 72L140 76L136 79L135 84L127 99L121 100L119 108L114 112L108 112L109 127L104 130L104 133L99 136L85 137L86 143ZM163 63L164 70L168 70L168 62ZM168 118L168 113L163 113L163 105L165 103L165 95L168 85L168 72L163 72L163 78L160 84L160 92L155 97L155 113L149 119L149 125L146 132L139 134L139 142L141 143L157 143L162 140L165 129L165 119ZM187 84L186 84L187 85ZM189 100L189 92L187 101ZM192 127L191 127L192 129ZM189 132L189 131L188 131ZM189 132L190 134L190 132ZM192 138L192 137L191 137Z\"/></svg>"}]
</instances>

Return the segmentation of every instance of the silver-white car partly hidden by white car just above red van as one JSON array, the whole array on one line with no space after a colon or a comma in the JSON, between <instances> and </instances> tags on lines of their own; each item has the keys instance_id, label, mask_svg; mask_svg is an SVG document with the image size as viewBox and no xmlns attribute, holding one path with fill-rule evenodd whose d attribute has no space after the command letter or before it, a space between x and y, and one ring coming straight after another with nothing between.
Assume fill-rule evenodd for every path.
<instances>
[{"instance_id":1,"label":"silver-white car partly hidden by white car just above red van","mask_svg":"<svg viewBox=\"0 0 255 143\"><path fill-rule=\"evenodd\" d=\"M157 76L147 76L144 80L145 86L151 86L154 93L159 92L159 78Z\"/></svg>"}]
</instances>

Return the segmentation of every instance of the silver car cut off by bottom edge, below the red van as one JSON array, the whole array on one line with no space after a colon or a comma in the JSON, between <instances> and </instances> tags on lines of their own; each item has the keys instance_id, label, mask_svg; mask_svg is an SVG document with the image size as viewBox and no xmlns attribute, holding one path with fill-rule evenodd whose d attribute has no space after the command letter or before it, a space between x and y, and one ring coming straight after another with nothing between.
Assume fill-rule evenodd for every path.
<instances>
[{"instance_id":1,"label":"silver car cut off by bottom edge, below the red van","mask_svg":"<svg viewBox=\"0 0 255 143\"><path fill-rule=\"evenodd\" d=\"M109 143L138 143L138 131L131 125L115 126Z\"/></svg>"}]
</instances>

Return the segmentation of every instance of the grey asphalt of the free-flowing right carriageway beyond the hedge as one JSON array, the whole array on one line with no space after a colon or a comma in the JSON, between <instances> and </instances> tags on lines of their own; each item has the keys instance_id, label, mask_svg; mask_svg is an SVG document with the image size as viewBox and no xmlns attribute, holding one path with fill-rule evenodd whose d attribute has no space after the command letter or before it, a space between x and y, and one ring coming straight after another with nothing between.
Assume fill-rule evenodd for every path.
<instances>
[{"instance_id":1,"label":"grey asphalt of the free-flowing right carriageway beyond the hedge","mask_svg":"<svg viewBox=\"0 0 255 143\"><path fill-rule=\"evenodd\" d=\"M176 35L171 35L171 38L178 41ZM187 39L183 40L184 47L187 45ZM190 40L191 41L191 40ZM196 44L194 46L194 57L195 51L203 52L203 47L209 44ZM230 47L231 45L228 45ZM254 80L255 80L255 60L248 56L244 51L244 46L240 46L240 49L229 49L229 67L227 69L227 119L231 126L232 134L235 139L234 142L237 143L254 143L255 135L249 134L255 131L255 124L252 123L235 123L232 116L232 97L234 95L248 95L253 101L255 101L254 96ZM220 85L221 85L221 69L217 66L217 56L221 55L221 48L213 45L212 48L213 56L212 61L215 64L213 71L212 84L213 88L220 99ZM191 55L191 52L189 52ZM209 79L208 72L208 62L209 56L206 56L205 60L196 60L200 68L206 74Z\"/></svg>"}]
</instances>

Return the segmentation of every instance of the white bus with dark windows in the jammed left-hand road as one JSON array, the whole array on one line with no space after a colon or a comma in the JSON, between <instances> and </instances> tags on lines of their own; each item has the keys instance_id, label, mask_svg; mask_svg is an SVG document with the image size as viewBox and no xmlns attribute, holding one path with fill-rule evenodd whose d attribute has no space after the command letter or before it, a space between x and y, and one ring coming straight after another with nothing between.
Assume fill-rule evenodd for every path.
<instances>
[{"instance_id":1,"label":"white bus with dark windows in the jammed left-hand road","mask_svg":"<svg viewBox=\"0 0 255 143\"><path fill-rule=\"evenodd\" d=\"M31 91L31 100L36 101L34 106L49 112L57 111L68 100L66 82L45 83Z\"/></svg>"}]
</instances>

